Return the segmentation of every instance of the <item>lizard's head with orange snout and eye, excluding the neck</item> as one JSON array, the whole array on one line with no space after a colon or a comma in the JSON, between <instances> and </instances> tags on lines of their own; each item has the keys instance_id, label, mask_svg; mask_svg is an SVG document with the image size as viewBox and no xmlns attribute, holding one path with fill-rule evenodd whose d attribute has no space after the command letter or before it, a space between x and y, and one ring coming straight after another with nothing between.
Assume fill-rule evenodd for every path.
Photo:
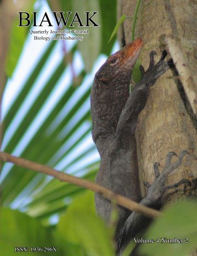
<instances>
[{"instance_id":1,"label":"lizard's head with orange snout and eye, excluding the neck","mask_svg":"<svg viewBox=\"0 0 197 256\"><path fill-rule=\"evenodd\" d=\"M108 84L113 79L121 79L123 75L131 77L134 64L139 58L142 39L137 38L123 49L111 55L95 74L95 78Z\"/></svg>"}]
</instances>

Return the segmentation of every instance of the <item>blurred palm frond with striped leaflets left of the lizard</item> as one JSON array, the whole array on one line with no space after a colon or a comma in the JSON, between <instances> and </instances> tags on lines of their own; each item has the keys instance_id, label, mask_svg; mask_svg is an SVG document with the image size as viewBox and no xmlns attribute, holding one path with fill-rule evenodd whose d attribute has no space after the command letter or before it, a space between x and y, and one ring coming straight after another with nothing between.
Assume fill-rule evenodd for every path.
<instances>
[{"instance_id":1,"label":"blurred palm frond with striped leaflets left of the lizard","mask_svg":"<svg viewBox=\"0 0 197 256\"><path fill-rule=\"evenodd\" d=\"M33 62L32 57L24 57L25 79L16 92L18 95L12 97L3 111L2 150L94 180L99 157L90 134L89 95L95 71L114 44L114 40L107 42L115 24L116 7L114 1L103 0L36 1L28 12L36 11L43 16L45 11L49 12L47 4L52 11L78 11L82 18L84 11L98 11L95 17L100 27L89 27L82 42L44 42L42 52L29 69L27 63ZM6 66L9 90L5 90L4 98L14 90L12 75L23 75L14 73L14 68L24 44L38 35L28 33L33 27L17 27L18 23L17 16L10 35ZM40 46L36 41L30 44L34 55ZM3 103L6 101L9 99L3 99ZM76 186L10 164L3 166L1 179L3 205L25 211L45 223L83 192Z\"/></svg>"}]
</instances>

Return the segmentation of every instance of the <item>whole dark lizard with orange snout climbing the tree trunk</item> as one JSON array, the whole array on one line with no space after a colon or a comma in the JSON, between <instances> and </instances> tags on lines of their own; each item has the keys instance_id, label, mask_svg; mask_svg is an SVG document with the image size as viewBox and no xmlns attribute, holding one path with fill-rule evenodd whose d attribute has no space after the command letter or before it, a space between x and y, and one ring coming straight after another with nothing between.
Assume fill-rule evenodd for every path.
<instances>
[{"instance_id":1,"label":"whole dark lizard with orange snout climbing the tree trunk","mask_svg":"<svg viewBox=\"0 0 197 256\"><path fill-rule=\"evenodd\" d=\"M150 86L169 69L169 63L164 62L166 52L163 52L161 59L155 65L156 52L151 52L150 67L146 73L141 68L143 78L129 94L132 68L140 55L141 47L142 40L136 39L111 55L95 74L91 92L92 136L101 158L96 182L145 206L159 208L166 189L164 182L168 173L172 171L167 170L167 167L171 167L170 162L174 153L168 154L166 170L161 176L156 175L157 180L147 196L142 199L135 129L138 116L146 105ZM180 162L184 154L185 151L179 156ZM157 171L157 166L155 170ZM109 222L110 201L95 194L95 205L99 215ZM119 206L119 221L115 235L119 254L146 224L148 224L147 218Z\"/></svg>"}]
</instances>

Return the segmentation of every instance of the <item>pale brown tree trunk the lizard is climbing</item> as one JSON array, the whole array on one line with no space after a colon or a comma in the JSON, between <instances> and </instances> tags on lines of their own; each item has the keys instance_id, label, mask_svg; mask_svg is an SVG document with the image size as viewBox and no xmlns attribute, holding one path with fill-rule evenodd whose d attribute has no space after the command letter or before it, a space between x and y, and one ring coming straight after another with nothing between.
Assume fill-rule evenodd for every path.
<instances>
[{"instance_id":1,"label":"pale brown tree trunk the lizard is climbing","mask_svg":"<svg viewBox=\"0 0 197 256\"><path fill-rule=\"evenodd\" d=\"M136 0L122 0L123 14L132 17L136 7ZM150 62L149 53L156 50L156 62L161 53L167 49L165 35L173 35L180 43L189 63L191 71L196 70L197 58L195 58L196 32L195 32L195 1L142 1L135 37L141 37L144 43L141 62L145 70ZM130 42L132 19L124 22L126 43ZM146 194L142 181L153 183L155 174L153 163L159 162L162 167L166 155L170 151L177 154L182 150L188 150L197 155L196 119L187 107L184 90L177 78L168 70L158 79L151 88L150 97L145 109L139 117L139 125L136 129L137 155L141 178L142 195ZM197 91L197 89L195 88ZM173 161L176 157L173 158ZM185 157L182 165L169 175L167 185L180 181L183 177L193 180L197 176L196 160ZM178 188L178 193L168 193L168 201L183 198L186 192L184 185ZM171 191L172 192L172 191Z\"/></svg>"}]
</instances>

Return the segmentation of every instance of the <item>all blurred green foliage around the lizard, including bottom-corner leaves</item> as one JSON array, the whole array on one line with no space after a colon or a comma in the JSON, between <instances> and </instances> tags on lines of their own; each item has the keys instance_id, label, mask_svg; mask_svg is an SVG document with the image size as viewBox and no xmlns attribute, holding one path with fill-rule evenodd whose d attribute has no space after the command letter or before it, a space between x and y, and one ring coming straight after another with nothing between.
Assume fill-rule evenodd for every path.
<instances>
[{"instance_id":1,"label":"all blurred green foliage around the lizard, including bottom-corner leaves","mask_svg":"<svg viewBox=\"0 0 197 256\"><path fill-rule=\"evenodd\" d=\"M14 9L14 15L4 70L1 150L94 181L99 155L91 136L89 96L95 72L118 49L115 37L108 44L116 24L116 1L8 2L7 14ZM95 22L100 27L89 27L82 42L38 42L29 29L46 27L18 27L18 11L38 12L38 18L45 11L77 11L82 19L84 11L97 11ZM5 38L6 33L4 30ZM114 225L107 228L96 216L92 192L10 163L2 165L0 181L2 255L15 255L14 250L22 250L19 247L28 248L26 254L31 255L43 255L39 248L45 247L48 255L115 255ZM184 239L191 237L187 247L145 244L141 255L186 255L195 244L196 211L196 203L177 204L147 235L154 239L163 234L168 238L178 234ZM124 256L134 245L129 245ZM31 247L36 252L30 252Z\"/></svg>"}]
</instances>

